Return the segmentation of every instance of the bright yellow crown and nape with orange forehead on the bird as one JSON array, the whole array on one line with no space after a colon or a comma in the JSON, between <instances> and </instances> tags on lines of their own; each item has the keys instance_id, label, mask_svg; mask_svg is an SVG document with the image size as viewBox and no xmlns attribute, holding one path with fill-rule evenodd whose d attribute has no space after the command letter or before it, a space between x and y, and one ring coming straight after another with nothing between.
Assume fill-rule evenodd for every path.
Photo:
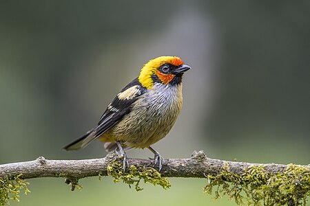
<instances>
[{"instance_id":1,"label":"bright yellow crown and nape with orange forehead on the bird","mask_svg":"<svg viewBox=\"0 0 310 206\"><path fill-rule=\"evenodd\" d=\"M147 62L141 69L140 76L138 77L138 80L143 87L152 89L154 85L152 75L158 69L158 67L161 67L161 65L164 65L165 63L169 63L175 66L183 65L183 61L177 56L160 56L158 58L149 60L149 62Z\"/></svg>"}]
</instances>

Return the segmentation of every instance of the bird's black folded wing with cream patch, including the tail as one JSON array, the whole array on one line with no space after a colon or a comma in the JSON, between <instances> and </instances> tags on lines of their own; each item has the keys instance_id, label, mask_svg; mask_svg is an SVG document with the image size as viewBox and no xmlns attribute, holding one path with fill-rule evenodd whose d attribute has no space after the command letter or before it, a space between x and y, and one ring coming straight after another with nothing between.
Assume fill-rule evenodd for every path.
<instances>
[{"instance_id":1,"label":"bird's black folded wing with cream patch, including the tail","mask_svg":"<svg viewBox=\"0 0 310 206\"><path fill-rule=\"evenodd\" d=\"M114 98L111 104L107 106L96 128L93 128L87 132L87 134L76 139L71 144L68 144L64 149L77 150L79 148L85 148L85 146L103 135L103 133L107 132L112 126L120 122L125 115L130 113L132 103L137 100L138 96L145 93L146 90L147 89L138 81L138 78L130 82L130 84L127 84L127 86L116 95L116 98Z\"/></svg>"}]
</instances>

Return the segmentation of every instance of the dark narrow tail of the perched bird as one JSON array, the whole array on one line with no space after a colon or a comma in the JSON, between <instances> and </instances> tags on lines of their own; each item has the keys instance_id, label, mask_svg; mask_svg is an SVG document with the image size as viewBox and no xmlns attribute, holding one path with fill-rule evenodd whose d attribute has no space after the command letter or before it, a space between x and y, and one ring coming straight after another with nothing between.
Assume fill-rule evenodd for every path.
<instances>
[{"instance_id":1,"label":"dark narrow tail of the perched bird","mask_svg":"<svg viewBox=\"0 0 310 206\"><path fill-rule=\"evenodd\" d=\"M90 142L92 142L95 137L96 133L94 129L89 130L85 135L82 135L78 139L72 141L70 144L63 147L64 150L79 150L81 148L85 148Z\"/></svg>"}]
</instances>

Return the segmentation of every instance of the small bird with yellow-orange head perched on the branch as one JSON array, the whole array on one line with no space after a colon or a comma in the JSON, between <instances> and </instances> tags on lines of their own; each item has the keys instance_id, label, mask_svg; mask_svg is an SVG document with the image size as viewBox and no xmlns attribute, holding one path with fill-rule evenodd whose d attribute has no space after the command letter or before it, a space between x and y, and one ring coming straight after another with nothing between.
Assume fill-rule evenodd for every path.
<instances>
[{"instance_id":1,"label":"small bird with yellow-orange head perched on the branch","mask_svg":"<svg viewBox=\"0 0 310 206\"><path fill-rule=\"evenodd\" d=\"M158 164L161 171L164 159L152 145L163 139L176 122L183 103L183 74L189 69L177 56L149 60L138 78L107 106L98 124L63 149L79 150L99 139L107 152L115 151L123 158L125 172L125 151L148 148L154 153L154 166Z\"/></svg>"}]
</instances>

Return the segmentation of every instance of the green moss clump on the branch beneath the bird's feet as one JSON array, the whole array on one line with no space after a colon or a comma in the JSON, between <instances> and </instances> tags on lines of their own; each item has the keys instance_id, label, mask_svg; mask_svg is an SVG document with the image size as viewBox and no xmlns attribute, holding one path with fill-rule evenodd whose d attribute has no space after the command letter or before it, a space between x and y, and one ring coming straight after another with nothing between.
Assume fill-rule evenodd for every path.
<instances>
[{"instance_id":1,"label":"green moss clump on the branch beneath the bird's feet","mask_svg":"<svg viewBox=\"0 0 310 206\"><path fill-rule=\"evenodd\" d=\"M161 177L159 173L154 168L141 167L136 168L132 165L125 174L123 174L123 168L120 163L112 163L108 168L107 172L110 176L114 177L114 183L123 181L128 185L134 185L136 191L141 191L143 188L140 186L141 180L144 183L152 183L153 185L161 185L163 189L168 189L171 187L167 178Z\"/></svg>"}]
</instances>

